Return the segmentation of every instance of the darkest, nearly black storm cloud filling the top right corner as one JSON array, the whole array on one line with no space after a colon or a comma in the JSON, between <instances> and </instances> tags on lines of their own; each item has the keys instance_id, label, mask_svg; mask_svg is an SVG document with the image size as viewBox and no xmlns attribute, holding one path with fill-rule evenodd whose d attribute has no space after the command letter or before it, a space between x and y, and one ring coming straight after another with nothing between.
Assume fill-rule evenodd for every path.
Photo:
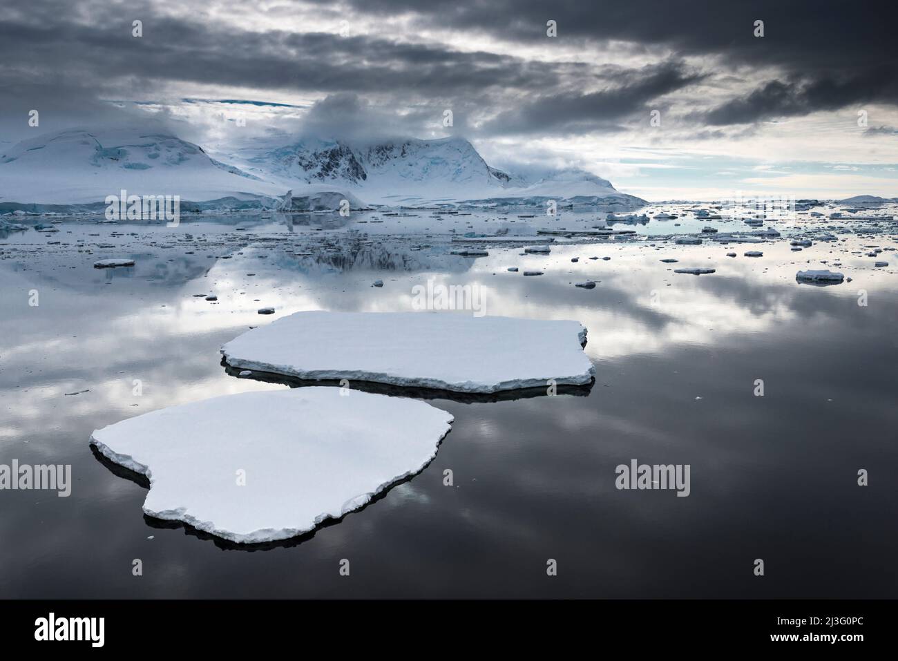
<instances>
[{"instance_id":1,"label":"darkest, nearly black storm cloud filling the top right corner","mask_svg":"<svg viewBox=\"0 0 898 661\"><path fill-rule=\"evenodd\" d=\"M359 13L407 13L420 24L487 32L499 39L546 40L548 20L558 23L559 40L584 44L625 40L669 48L679 57L720 57L729 65L773 67L792 80L769 81L742 99L709 114L716 124L750 123L858 101L898 102L898 18L894 0L784 2L761 0L348 0ZM754 36L754 22L764 36ZM871 75L871 72L875 72ZM817 104L820 104L819 106Z\"/></svg>"}]
</instances>

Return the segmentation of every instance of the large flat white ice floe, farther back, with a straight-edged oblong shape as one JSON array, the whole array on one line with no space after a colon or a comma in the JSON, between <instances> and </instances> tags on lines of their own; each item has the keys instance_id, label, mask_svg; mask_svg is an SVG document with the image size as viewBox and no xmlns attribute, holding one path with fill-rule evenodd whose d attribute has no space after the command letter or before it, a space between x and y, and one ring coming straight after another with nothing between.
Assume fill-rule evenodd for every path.
<instances>
[{"instance_id":1,"label":"large flat white ice floe, farther back, with a straight-edged oblong shape","mask_svg":"<svg viewBox=\"0 0 898 661\"><path fill-rule=\"evenodd\" d=\"M585 337L569 321L315 311L247 331L221 351L230 366L300 379L499 392L589 383Z\"/></svg>"}]
</instances>

